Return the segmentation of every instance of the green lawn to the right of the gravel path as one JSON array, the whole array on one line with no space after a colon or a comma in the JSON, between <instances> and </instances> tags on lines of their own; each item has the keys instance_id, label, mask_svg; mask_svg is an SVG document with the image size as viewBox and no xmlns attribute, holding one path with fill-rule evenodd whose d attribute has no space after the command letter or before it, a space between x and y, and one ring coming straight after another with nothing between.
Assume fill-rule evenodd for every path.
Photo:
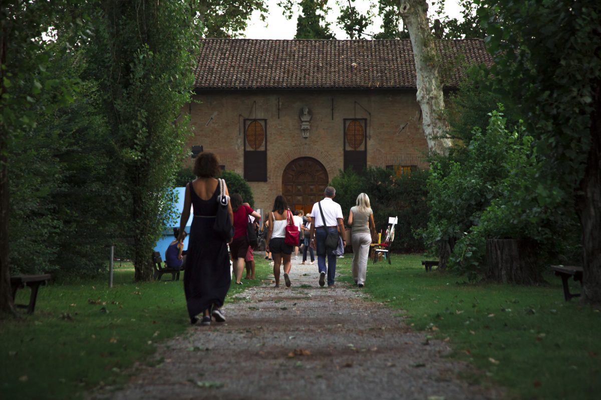
<instances>
[{"instance_id":1,"label":"green lawn to the right of the gravel path","mask_svg":"<svg viewBox=\"0 0 601 400\"><path fill-rule=\"evenodd\" d=\"M511 398L601 396L601 312L578 299L565 302L560 278L549 273L542 287L466 284L451 273L426 273L425 259L393 255L391 266L370 262L362 290L424 330L424 341L448 338L452 357L485 374L467 378L490 377ZM350 270L340 272L352 282ZM580 291L577 282L571 291Z\"/></svg>"}]
</instances>

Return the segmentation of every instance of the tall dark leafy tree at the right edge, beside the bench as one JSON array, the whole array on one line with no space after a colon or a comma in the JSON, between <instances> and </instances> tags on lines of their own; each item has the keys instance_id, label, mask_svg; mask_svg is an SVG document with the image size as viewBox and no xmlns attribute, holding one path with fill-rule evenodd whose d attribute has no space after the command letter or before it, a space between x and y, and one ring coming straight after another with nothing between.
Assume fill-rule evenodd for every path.
<instances>
[{"instance_id":1,"label":"tall dark leafy tree at the right edge, beside the bench","mask_svg":"<svg viewBox=\"0 0 601 400\"><path fill-rule=\"evenodd\" d=\"M582 302L601 304L601 3L477 0L493 74L519 99L545 169L544 207L572 199L582 226Z\"/></svg>"}]
</instances>

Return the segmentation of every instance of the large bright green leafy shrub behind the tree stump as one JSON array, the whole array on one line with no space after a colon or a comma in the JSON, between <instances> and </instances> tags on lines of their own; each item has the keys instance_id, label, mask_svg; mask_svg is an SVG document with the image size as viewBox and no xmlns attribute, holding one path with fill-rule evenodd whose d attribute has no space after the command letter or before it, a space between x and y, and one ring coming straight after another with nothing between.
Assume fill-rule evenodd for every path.
<instances>
[{"instance_id":1,"label":"large bright green leafy shrub behind the tree stump","mask_svg":"<svg viewBox=\"0 0 601 400\"><path fill-rule=\"evenodd\" d=\"M444 171L433 163L428 180L430 221L423 233L430 246L459 239L451 268L471 276L483 273L486 239L534 239L540 265L578 247L570 208L538 205L533 188L541 164L532 137L520 125L507 130L502 113L490 113L486 133L474 130L463 163L451 160L447 167Z\"/></svg>"}]
</instances>

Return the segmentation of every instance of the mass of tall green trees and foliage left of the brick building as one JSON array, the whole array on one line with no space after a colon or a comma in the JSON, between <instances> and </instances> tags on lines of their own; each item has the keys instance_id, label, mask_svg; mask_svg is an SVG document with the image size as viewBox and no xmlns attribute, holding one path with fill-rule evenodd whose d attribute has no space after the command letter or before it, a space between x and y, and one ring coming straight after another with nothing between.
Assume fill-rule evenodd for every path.
<instances>
[{"instance_id":1,"label":"mass of tall green trees and foliage left of the brick building","mask_svg":"<svg viewBox=\"0 0 601 400\"><path fill-rule=\"evenodd\" d=\"M263 0L201 3L3 2L3 269L87 278L117 244L136 279L150 278L148 254L174 211L198 39L240 35L266 10Z\"/></svg>"}]
</instances>

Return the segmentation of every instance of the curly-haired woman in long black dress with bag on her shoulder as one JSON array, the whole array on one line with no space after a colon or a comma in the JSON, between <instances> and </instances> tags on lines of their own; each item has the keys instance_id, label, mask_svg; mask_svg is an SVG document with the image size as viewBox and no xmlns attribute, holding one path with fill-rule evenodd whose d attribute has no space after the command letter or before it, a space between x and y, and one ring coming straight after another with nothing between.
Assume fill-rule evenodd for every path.
<instances>
[{"instance_id":1,"label":"curly-haired woman in long black dress with bag on her shoulder","mask_svg":"<svg viewBox=\"0 0 601 400\"><path fill-rule=\"evenodd\" d=\"M203 314L203 325L210 325L211 316L215 321L225 321L220 308L230 288L230 255L227 243L213 230L220 194L219 181L215 177L220 172L215 155L201 153L194 164L194 174L198 178L186 185L180 232L188 222L190 206L194 206L184 270L184 293L192 324L198 321L200 314ZM229 195L227 187L224 190ZM230 221L234 221L229 201L228 211Z\"/></svg>"}]
</instances>

